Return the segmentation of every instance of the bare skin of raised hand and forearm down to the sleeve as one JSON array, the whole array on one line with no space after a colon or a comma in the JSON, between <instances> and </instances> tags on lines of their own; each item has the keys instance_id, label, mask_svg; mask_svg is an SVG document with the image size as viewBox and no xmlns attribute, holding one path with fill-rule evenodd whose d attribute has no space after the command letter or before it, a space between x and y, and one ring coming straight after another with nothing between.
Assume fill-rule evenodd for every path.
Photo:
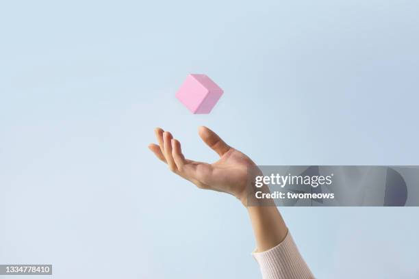
<instances>
[{"instance_id":1,"label":"bare skin of raised hand and forearm down to the sleeve","mask_svg":"<svg viewBox=\"0 0 419 279\"><path fill-rule=\"evenodd\" d=\"M223 191L236 196L247 208L259 252L275 247L283 241L288 229L277 207L248 206L247 185L249 169L259 170L253 161L242 152L228 146L223 139L207 127L199 127L203 142L220 155L215 163L201 163L185 159L181 144L169 132L155 129L157 144L149 148L160 160L168 164L171 171L188 179L201 189ZM275 204L272 204L275 205Z\"/></svg>"}]
</instances>

